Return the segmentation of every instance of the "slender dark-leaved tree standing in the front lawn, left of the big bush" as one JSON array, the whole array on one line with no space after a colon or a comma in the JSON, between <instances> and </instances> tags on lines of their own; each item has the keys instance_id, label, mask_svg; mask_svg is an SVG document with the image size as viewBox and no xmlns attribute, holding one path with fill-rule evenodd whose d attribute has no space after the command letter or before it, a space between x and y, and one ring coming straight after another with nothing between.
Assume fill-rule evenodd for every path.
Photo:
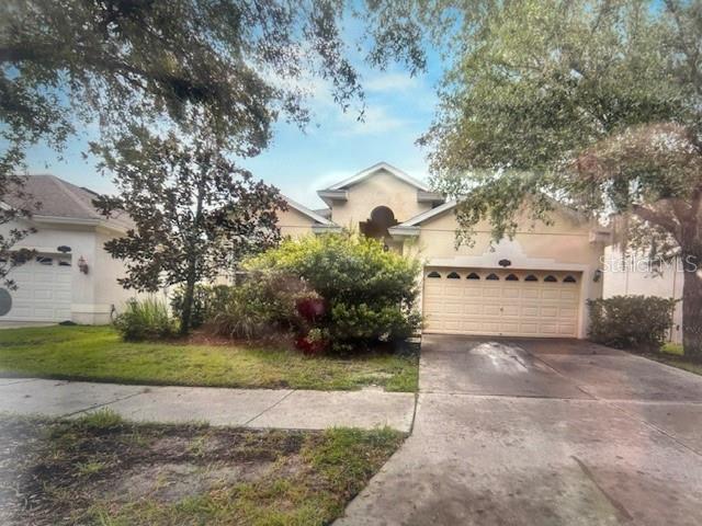
<instances>
[{"instance_id":1,"label":"slender dark-leaved tree standing in the front lawn, left of the big bush","mask_svg":"<svg viewBox=\"0 0 702 526\"><path fill-rule=\"evenodd\" d=\"M101 196L95 205L106 216L128 214L135 224L105 243L126 263L120 283L140 291L183 285L180 330L186 334L195 284L274 244L275 211L284 202L276 188L236 168L206 128L183 139L135 127L113 145L92 149L118 188L117 197Z\"/></svg>"}]
</instances>

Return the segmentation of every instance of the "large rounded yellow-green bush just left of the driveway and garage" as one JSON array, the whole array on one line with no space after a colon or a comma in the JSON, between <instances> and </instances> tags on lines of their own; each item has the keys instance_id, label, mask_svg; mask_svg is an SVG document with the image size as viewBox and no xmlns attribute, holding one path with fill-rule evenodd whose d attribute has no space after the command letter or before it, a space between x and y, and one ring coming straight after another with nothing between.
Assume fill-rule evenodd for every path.
<instances>
[{"instance_id":1,"label":"large rounded yellow-green bush just left of the driveway and garage","mask_svg":"<svg viewBox=\"0 0 702 526\"><path fill-rule=\"evenodd\" d=\"M286 240L246 266L252 276L304 284L307 290L296 297L296 323L313 346L322 341L350 352L405 339L420 327L415 309L419 262L385 250L377 240L352 233ZM305 294L320 300L301 300ZM317 316L305 313L317 304L324 306ZM290 302L282 310L290 316Z\"/></svg>"}]
</instances>

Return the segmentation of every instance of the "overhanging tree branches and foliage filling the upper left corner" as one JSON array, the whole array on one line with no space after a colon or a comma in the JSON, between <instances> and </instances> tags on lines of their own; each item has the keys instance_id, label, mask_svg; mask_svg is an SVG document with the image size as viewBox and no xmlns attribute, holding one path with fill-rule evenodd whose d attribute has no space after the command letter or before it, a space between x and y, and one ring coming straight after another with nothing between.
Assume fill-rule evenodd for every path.
<instances>
[{"instance_id":1,"label":"overhanging tree branches and foliage filling the upper left corner","mask_svg":"<svg viewBox=\"0 0 702 526\"><path fill-rule=\"evenodd\" d=\"M29 146L60 150L82 125L97 123L106 142L134 125L190 133L191 116L207 113L222 147L253 156L279 116L307 122L305 79L327 80L344 108L362 101L340 35L347 11L337 0L3 0L0 201L22 191L13 174ZM422 57L405 53L417 44L403 31L378 21L378 48L416 71ZM372 52L387 64L389 53ZM0 225L15 218L0 210ZM0 236L0 256L20 238Z\"/></svg>"}]
</instances>

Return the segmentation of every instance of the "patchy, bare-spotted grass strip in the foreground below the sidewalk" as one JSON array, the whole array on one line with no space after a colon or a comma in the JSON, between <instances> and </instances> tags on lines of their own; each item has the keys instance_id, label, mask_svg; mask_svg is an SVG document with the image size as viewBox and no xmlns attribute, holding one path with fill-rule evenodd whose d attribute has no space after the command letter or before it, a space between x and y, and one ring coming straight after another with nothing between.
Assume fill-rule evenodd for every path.
<instances>
[{"instance_id":1,"label":"patchy, bare-spotted grass strip in the foreground below the sidewalk","mask_svg":"<svg viewBox=\"0 0 702 526\"><path fill-rule=\"evenodd\" d=\"M18 526L330 524L404 438L128 424L110 412L0 418L0 524Z\"/></svg>"}]
</instances>

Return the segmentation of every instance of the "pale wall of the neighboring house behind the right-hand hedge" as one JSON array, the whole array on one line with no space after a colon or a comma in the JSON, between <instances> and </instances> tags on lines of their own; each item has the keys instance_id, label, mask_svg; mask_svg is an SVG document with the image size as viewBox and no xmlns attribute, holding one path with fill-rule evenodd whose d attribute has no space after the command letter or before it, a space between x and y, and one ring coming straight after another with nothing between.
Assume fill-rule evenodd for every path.
<instances>
[{"instance_id":1,"label":"pale wall of the neighboring house behind the right-hand hedge","mask_svg":"<svg viewBox=\"0 0 702 526\"><path fill-rule=\"evenodd\" d=\"M623 256L616 247L604 249L602 296L658 296L661 298L682 298L683 271L679 260L652 266L645 254ZM672 312L672 328L668 340L682 343L682 301L676 304Z\"/></svg>"}]
</instances>

